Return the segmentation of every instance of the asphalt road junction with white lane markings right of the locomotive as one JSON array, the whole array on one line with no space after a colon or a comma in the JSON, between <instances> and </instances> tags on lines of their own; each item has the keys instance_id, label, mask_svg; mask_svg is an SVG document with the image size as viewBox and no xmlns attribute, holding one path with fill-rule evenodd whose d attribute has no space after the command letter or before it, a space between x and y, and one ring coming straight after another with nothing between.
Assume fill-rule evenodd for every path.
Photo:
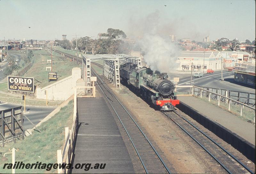
<instances>
[{"instance_id":1,"label":"asphalt road junction with white lane markings right of the locomotive","mask_svg":"<svg viewBox=\"0 0 256 174\"><path fill-rule=\"evenodd\" d=\"M182 86L190 85L190 74L172 73L169 76L171 77L171 79L173 77L180 77L180 82L177 86L177 91L180 91L180 92L189 91L189 88L179 88L179 85L182 85ZM215 71L212 74L204 74L203 77L192 77L192 85L255 93L255 89L253 87L246 86L245 88L243 84L235 84L235 83L227 82L234 79L234 74L232 74L232 72L223 71L223 78L224 78L224 82L221 82L220 81L221 72Z\"/></svg>"}]
</instances>

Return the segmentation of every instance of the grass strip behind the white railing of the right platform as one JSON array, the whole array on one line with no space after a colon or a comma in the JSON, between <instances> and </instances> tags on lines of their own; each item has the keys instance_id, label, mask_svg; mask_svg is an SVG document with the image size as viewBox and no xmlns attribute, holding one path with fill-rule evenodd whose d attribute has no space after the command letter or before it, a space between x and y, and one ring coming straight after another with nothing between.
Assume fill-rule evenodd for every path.
<instances>
[{"instance_id":1,"label":"grass strip behind the white railing of the right platform","mask_svg":"<svg viewBox=\"0 0 256 174\"><path fill-rule=\"evenodd\" d=\"M201 99L205 102L208 102L208 98L206 97L198 97L198 99ZM212 105L214 106L218 106L218 100L213 100L211 99L211 102L208 102L208 103L211 103ZM255 112L254 110L248 108L248 107L244 107L243 109L243 116L240 116L240 112L241 112L241 105L233 105L234 102L232 102L232 104L230 105L230 111L232 113L234 113L235 115L237 115L239 118L245 120L245 121L250 121L253 123L253 119L254 119L254 116L255 116ZM225 109L225 110L228 110L228 103L225 103L225 102L220 102L220 107Z\"/></svg>"}]
</instances>

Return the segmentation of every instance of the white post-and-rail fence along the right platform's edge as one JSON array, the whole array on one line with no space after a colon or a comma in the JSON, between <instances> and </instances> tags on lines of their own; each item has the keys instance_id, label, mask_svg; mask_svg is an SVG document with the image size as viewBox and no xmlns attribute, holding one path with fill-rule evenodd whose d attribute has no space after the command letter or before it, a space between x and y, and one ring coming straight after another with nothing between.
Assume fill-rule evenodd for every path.
<instances>
[{"instance_id":1,"label":"white post-and-rail fence along the right platform's edge","mask_svg":"<svg viewBox=\"0 0 256 174\"><path fill-rule=\"evenodd\" d=\"M215 93L215 92L208 91L206 89L200 88L198 86L177 86L177 87L179 87L179 88L191 88L192 92L191 92L191 94L187 94L188 96L195 95L195 89L199 89L199 91L197 91L197 92L199 92L198 96L200 96L200 98L203 97L203 91L206 91L207 92L206 96L208 97L208 101L209 102L211 101L211 96L214 94L217 97L218 106L220 106L220 101L222 101L223 99L224 99L225 103L228 103L228 111L231 110L231 107L230 107L231 103L235 102L236 104L241 105L240 116L243 116L243 109L244 109L244 107L252 109L253 113L255 113L255 108L254 107L248 106L248 105L246 105L244 103L241 103L240 101L236 101L235 99L228 98L227 92L225 93L225 96L224 96L224 95L221 95L221 94L218 94L218 93ZM177 96L179 96L179 95L177 95ZM255 123L255 115L254 115L253 123Z\"/></svg>"}]
</instances>

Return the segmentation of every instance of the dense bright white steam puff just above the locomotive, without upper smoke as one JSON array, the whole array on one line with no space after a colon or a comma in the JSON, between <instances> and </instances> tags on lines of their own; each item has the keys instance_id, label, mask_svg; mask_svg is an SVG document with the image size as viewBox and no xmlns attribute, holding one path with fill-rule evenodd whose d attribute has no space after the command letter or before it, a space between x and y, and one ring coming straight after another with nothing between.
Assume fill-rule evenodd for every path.
<instances>
[{"instance_id":1,"label":"dense bright white steam puff just above the locomotive, without upper smoke","mask_svg":"<svg viewBox=\"0 0 256 174\"><path fill-rule=\"evenodd\" d=\"M150 66L151 70L169 72L178 67L175 61L179 48L170 39L164 39L156 35L144 35L139 44L141 49L145 51L144 61Z\"/></svg>"}]
</instances>

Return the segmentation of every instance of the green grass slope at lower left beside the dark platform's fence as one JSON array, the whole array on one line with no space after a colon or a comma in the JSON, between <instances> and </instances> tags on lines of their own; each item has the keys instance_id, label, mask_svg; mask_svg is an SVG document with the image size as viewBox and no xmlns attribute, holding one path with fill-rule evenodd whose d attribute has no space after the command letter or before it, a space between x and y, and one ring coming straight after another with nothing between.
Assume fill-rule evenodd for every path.
<instances>
[{"instance_id":1,"label":"green grass slope at lower left beside the dark platform's fence","mask_svg":"<svg viewBox=\"0 0 256 174\"><path fill-rule=\"evenodd\" d=\"M16 143L5 144L0 149L3 154L9 152L9 148L19 148L15 152L15 161L23 163L57 163L57 150L64 145L65 127L72 126L73 121L73 100L67 106L62 107L60 112L50 120L38 127L40 132L34 131L31 136L24 140L17 140ZM4 163L12 163L12 155L6 154L7 161L0 161L0 173L11 173L11 169L3 169ZM16 173L57 173L57 169L46 171L45 169L15 169Z\"/></svg>"}]
</instances>

